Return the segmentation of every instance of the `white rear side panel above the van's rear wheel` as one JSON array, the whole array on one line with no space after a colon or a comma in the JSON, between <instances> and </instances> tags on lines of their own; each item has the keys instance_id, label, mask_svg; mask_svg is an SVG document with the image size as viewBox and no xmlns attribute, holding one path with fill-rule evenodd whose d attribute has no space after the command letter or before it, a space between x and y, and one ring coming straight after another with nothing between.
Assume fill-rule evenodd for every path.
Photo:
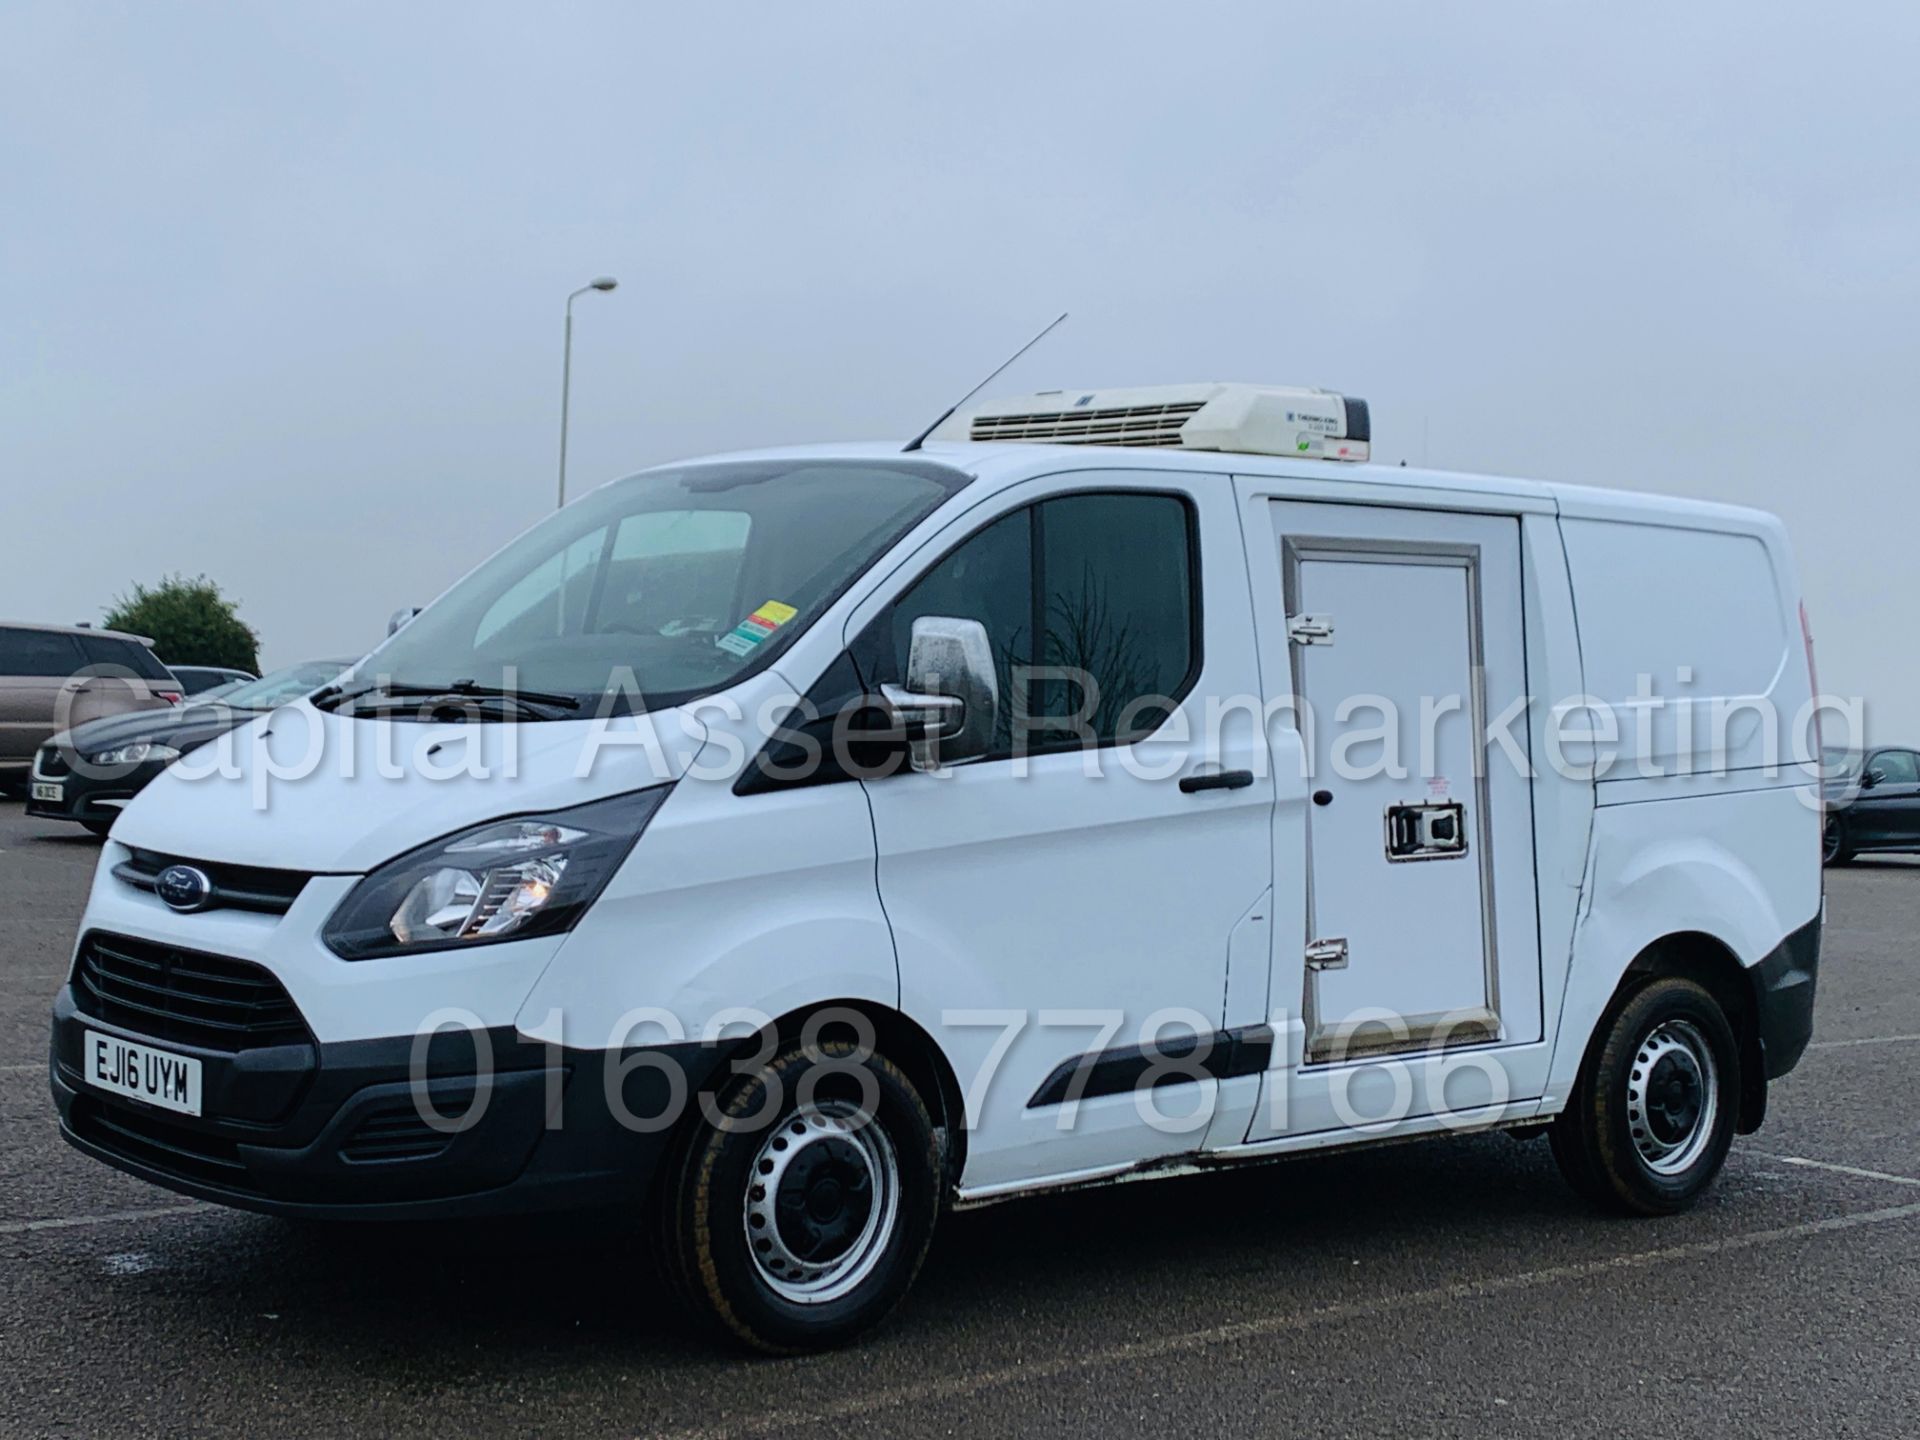
<instances>
[{"instance_id":1,"label":"white rear side panel above the van's rear wheel","mask_svg":"<svg viewBox=\"0 0 1920 1440\"><path fill-rule=\"evenodd\" d=\"M1565 490L1584 691L1569 747L1594 839L1544 1110L1559 1110L1628 966L1668 935L1759 964L1820 914L1812 685L1780 522ZM1605 712L1613 712L1613 720Z\"/></svg>"}]
</instances>

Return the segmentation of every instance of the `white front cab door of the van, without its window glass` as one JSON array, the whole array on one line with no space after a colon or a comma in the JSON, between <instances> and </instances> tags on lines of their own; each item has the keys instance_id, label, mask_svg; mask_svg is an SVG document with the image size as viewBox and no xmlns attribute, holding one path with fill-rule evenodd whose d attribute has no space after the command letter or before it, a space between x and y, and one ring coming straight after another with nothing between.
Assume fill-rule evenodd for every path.
<instances>
[{"instance_id":1,"label":"white front cab door of the van, without its window glass","mask_svg":"<svg viewBox=\"0 0 1920 1440\"><path fill-rule=\"evenodd\" d=\"M962 1190L972 1194L1200 1148L1217 1116L1212 1077L1064 1104L1041 1096L1062 1066L1091 1054L1212 1039L1229 956L1263 939L1271 781L1227 476L1083 470L1014 486L877 588L847 639L989 520L1050 495L1110 490L1183 493L1198 522L1202 666L1177 710L1131 745L866 783L900 1008L939 1039L966 1094L973 1133ZM1244 705L1213 722L1212 697ZM1212 770L1246 770L1250 783L1181 787ZM1250 1087L1233 1094L1244 1106Z\"/></svg>"}]
</instances>

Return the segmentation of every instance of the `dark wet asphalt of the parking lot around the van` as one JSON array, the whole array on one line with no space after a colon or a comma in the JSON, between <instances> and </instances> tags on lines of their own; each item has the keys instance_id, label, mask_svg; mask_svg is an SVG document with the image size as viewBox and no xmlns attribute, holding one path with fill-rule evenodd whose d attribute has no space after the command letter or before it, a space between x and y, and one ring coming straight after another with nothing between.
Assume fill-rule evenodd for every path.
<instances>
[{"instance_id":1,"label":"dark wet asphalt of the parking lot around the van","mask_svg":"<svg viewBox=\"0 0 1920 1440\"><path fill-rule=\"evenodd\" d=\"M1480 1137L950 1215L864 1346L685 1336L612 1221L301 1227L58 1135L98 843L0 801L4 1434L1920 1432L1920 864L1828 881L1814 1048L1668 1221Z\"/></svg>"}]
</instances>

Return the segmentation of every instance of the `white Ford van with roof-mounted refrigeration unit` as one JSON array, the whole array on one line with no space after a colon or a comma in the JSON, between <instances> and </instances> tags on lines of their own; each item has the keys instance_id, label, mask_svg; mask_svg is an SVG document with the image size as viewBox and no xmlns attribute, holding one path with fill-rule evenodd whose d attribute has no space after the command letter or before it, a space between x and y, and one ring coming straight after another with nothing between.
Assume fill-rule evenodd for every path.
<instances>
[{"instance_id":1,"label":"white Ford van with roof-mounted refrigeration unit","mask_svg":"<svg viewBox=\"0 0 1920 1440\"><path fill-rule=\"evenodd\" d=\"M1064 392L580 499L127 806L65 1137L278 1215L620 1208L776 1352L1046 1188L1534 1127L1682 1210L1812 1027L1782 528L1367 426Z\"/></svg>"}]
</instances>

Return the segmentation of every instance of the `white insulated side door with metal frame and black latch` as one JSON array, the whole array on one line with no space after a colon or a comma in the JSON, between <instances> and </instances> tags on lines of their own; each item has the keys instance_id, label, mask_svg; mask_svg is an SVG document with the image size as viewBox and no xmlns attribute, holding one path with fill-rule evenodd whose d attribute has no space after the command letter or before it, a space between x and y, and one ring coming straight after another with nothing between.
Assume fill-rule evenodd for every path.
<instances>
[{"instance_id":1,"label":"white insulated side door with metal frame and black latch","mask_svg":"<svg viewBox=\"0 0 1920 1440\"><path fill-rule=\"evenodd\" d=\"M1296 1073L1288 1106L1263 1104L1250 1139L1373 1119L1352 1114L1365 1106L1346 1079L1325 1083L1332 1071L1542 1037L1530 760L1515 710L1526 695L1519 520L1267 509L1271 538L1250 538L1256 564L1271 543L1281 582L1279 607L1260 612L1261 668L1269 697L1294 697L1311 803L1292 810L1306 874L1275 876L1277 895L1304 891L1302 933L1275 933L1271 987L1275 1012L1300 1016L1284 1027L1294 1054L1277 1056ZM1471 1081L1442 1098L1427 1068L1413 1073L1402 1117L1496 1098Z\"/></svg>"}]
</instances>

